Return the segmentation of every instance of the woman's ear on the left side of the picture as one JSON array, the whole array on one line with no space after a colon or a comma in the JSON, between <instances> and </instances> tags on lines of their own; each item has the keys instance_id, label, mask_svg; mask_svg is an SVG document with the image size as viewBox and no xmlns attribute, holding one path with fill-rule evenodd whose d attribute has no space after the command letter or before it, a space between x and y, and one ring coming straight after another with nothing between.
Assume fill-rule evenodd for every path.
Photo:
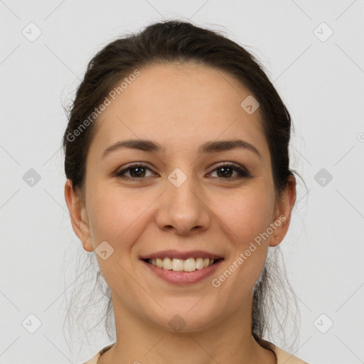
<instances>
[{"instance_id":1,"label":"woman's ear on the left side of the picture","mask_svg":"<svg viewBox=\"0 0 364 364\"><path fill-rule=\"evenodd\" d=\"M81 240L83 248L87 252L94 250L90 235L90 225L88 222L85 203L80 193L73 190L72 181L68 179L65 183L65 202L70 212L71 224L73 231Z\"/></svg>"}]
</instances>

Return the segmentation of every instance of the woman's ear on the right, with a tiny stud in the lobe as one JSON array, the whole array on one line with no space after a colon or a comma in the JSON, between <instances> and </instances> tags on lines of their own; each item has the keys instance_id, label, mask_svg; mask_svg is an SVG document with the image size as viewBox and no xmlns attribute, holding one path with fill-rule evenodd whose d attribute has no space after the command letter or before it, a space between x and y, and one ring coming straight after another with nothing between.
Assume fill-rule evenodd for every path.
<instances>
[{"instance_id":1,"label":"woman's ear on the right, with a tiny stud in the lobe","mask_svg":"<svg viewBox=\"0 0 364 364\"><path fill-rule=\"evenodd\" d=\"M269 237L269 246L276 247L284 239L289 228L291 212L296 202L296 178L291 175L287 183L287 188L282 192L282 196L277 200L274 209L274 220L272 228L274 231Z\"/></svg>"}]
</instances>

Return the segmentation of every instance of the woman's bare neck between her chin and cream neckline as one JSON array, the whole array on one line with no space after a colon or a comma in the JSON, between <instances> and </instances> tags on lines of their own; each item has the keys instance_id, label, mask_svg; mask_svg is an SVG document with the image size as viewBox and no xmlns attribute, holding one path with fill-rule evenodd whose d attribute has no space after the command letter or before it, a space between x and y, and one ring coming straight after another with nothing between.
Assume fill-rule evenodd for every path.
<instances>
[{"instance_id":1,"label":"woman's bare neck between her chin and cream neckline","mask_svg":"<svg viewBox=\"0 0 364 364\"><path fill-rule=\"evenodd\" d=\"M117 340L97 364L276 364L272 351L252 337L250 309L213 326L174 332L148 323L113 302Z\"/></svg>"}]
</instances>

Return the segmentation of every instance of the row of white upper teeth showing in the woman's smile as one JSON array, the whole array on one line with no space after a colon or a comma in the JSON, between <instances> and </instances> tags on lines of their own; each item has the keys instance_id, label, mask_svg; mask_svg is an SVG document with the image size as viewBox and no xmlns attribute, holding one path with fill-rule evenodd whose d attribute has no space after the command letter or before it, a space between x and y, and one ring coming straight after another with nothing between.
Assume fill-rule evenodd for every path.
<instances>
[{"instance_id":1,"label":"row of white upper teeth showing in the woman's smile","mask_svg":"<svg viewBox=\"0 0 364 364\"><path fill-rule=\"evenodd\" d=\"M203 269L210 265L213 265L215 259L213 258L188 258L188 259L179 259L179 258L153 258L148 259L150 264L153 264L155 267L173 270L175 272L193 272L196 269Z\"/></svg>"}]
</instances>

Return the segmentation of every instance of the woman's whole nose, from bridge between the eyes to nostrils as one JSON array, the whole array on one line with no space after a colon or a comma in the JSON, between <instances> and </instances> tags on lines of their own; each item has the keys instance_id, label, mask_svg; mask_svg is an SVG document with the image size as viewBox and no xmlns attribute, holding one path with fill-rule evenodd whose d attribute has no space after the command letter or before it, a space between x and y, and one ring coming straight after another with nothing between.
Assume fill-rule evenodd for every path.
<instances>
[{"instance_id":1,"label":"woman's whole nose, from bridge between the eyes to nostrils","mask_svg":"<svg viewBox=\"0 0 364 364\"><path fill-rule=\"evenodd\" d=\"M188 168L183 168L186 171ZM186 235L196 227L208 228L210 217L208 208L199 196L200 186L193 177L191 168L186 171L175 168L166 180L166 191L161 196L156 222L159 228L175 228L179 234Z\"/></svg>"}]
</instances>

